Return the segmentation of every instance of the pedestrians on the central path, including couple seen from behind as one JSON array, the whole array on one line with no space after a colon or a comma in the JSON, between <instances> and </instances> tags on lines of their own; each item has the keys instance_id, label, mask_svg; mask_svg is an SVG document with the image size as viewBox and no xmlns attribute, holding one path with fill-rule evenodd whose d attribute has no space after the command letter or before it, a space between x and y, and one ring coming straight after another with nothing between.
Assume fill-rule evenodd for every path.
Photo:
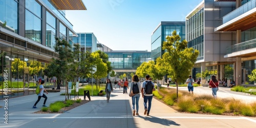
<instances>
[{"instance_id":1,"label":"pedestrians on the central path, including couple seen from behind","mask_svg":"<svg viewBox=\"0 0 256 128\"><path fill-rule=\"evenodd\" d=\"M137 115L139 116L139 99L140 99L140 94L142 95L144 99L144 115L149 116L150 115L150 110L151 110L151 102L153 99L153 91L155 91L154 88L154 83L151 81L150 75L145 76L145 81L141 82L139 81L139 77L137 75L133 75L132 82L131 82L131 89L130 93L133 93L134 95L132 97L132 109L133 109L133 116ZM123 94L127 93L127 89L129 89L129 82L128 79L126 78L124 82L124 89L123 89ZM119 82L117 82L119 84ZM121 81L120 81L121 83ZM116 83L114 82L115 86ZM119 86L120 87L120 86ZM137 91L136 91L137 90ZM106 101L109 102L110 100L110 94L113 91L113 86L110 81L110 79L107 80L106 86L105 86L105 92L106 92ZM148 102L148 106L147 106ZM136 105L136 110L135 110L135 105Z\"/></svg>"}]
</instances>

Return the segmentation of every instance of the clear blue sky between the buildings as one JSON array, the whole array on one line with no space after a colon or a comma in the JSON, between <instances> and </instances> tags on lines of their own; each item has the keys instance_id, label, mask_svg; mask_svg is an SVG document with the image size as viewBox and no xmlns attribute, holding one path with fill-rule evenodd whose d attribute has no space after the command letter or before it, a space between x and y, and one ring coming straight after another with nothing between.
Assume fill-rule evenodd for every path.
<instances>
[{"instance_id":1,"label":"clear blue sky between the buildings","mask_svg":"<svg viewBox=\"0 0 256 128\"><path fill-rule=\"evenodd\" d=\"M112 50L151 51L161 21L185 21L202 0L83 0L86 11L66 11L75 32L93 32Z\"/></svg>"}]
</instances>

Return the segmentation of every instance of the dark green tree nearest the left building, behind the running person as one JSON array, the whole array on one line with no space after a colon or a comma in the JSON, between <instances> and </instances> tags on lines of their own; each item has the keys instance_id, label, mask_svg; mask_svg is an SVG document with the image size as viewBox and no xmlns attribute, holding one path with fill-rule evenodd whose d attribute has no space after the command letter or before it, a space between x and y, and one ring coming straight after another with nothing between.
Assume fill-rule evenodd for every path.
<instances>
[{"instance_id":1,"label":"dark green tree nearest the left building, behind the running person","mask_svg":"<svg viewBox=\"0 0 256 128\"><path fill-rule=\"evenodd\" d=\"M52 58L45 73L48 77L56 76L57 89L60 89L61 81L65 82L69 78L68 74L71 71L69 65L74 62L74 56L71 46L65 39L59 40L56 38L55 52L59 54L58 58ZM66 84L67 85L67 84ZM68 88L66 88L68 90ZM68 92L68 91L67 91Z\"/></svg>"}]
</instances>

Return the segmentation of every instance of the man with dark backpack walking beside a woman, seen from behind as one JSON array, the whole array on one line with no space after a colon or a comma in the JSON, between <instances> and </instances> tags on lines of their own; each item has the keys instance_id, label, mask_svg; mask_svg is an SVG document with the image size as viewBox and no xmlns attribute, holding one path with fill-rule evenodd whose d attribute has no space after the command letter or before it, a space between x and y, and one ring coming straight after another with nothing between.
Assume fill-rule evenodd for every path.
<instances>
[{"instance_id":1,"label":"man with dark backpack walking beside a woman, seen from behind","mask_svg":"<svg viewBox=\"0 0 256 128\"><path fill-rule=\"evenodd\" d=\"M146 75L146 80L142 83L142 97L144 98L144 115L150 115L151 102L153 99L153 91L155 91L154 83L150 81L150 75ZM148 101L148 108L147 108Z\"/></svg>"}]
</instances>

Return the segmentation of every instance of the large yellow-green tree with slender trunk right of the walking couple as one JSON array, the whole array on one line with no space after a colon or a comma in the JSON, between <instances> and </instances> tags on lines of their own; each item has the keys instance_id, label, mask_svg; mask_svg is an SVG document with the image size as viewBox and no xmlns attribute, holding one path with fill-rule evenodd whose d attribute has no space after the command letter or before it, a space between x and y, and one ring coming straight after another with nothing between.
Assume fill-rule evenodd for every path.
<instances>
[{"instance_id":1,"label":"large yellow-green tree with slender trunk right of the walking couple","mask_svg":"<svg viewBox=\"0 0 256 128\"><path fill-rule=\"evenodd\" d=\"M180 42L180 36L176 31L172 36L167 36L166 41L163 42L163 49L166 50L163 54L165 63L171 67L172 79L176 81L177 97L178 97L178 83L185 81L190 74L190 69L193 68L197 57L199 55L198 50L193 48L187 48L187 41Z\"/></svg>"}]
</instances>

